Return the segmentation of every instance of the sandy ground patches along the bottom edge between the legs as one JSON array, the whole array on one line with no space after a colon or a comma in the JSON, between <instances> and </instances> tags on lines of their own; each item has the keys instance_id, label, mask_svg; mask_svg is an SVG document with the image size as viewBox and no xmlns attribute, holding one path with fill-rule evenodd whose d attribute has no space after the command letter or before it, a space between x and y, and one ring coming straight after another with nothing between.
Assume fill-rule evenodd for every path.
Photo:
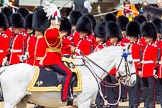
<instances>
[{"instance_id":1,"label":"sandy ground patches along the bottom edge between the legs","mask_svg":"<svg viewBox=\"0 0 162 108\"><path fill-rule=\"evenodd\" d=\"M4 103L0 102L0 108L3 108ZM127 108L128 102L120 102L119 103L119 108ZM33 104L28 104L27 108L33 108ZM143 103L140 104L139 108L143 108ZM156 108L161 108L160 105L156 105Z\"/></svg>"}]
</instances>

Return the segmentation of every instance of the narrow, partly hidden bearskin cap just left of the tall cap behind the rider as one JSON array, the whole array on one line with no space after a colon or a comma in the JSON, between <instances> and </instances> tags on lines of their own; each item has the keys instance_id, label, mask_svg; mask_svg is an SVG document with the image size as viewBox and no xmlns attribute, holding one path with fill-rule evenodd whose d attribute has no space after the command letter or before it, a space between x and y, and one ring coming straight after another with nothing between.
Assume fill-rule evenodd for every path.
<instances>
[{"instance_id":1,"label":"narrow, partly hidden bearskin cap just left of the tall cap behind the rider","mask_svg":"<svg viewBox=\"0 0 162 108\"><path fill-rule=\"evenodd\" d=\"M24 28L30 28L32 29L32 18L33 18L33 14L29 14L25 17L25 24L24 24Z\"/></svg>"}]
</instances>

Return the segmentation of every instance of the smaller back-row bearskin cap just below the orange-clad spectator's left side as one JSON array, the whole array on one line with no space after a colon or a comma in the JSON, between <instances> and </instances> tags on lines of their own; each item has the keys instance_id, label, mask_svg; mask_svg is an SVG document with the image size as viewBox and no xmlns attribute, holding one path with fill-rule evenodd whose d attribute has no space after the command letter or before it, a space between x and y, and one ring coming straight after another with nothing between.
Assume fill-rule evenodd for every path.
<instances>
[{"instance_id":1,"label":"smaller back-row bearskin cap just below the orange-clad spectator's left side","mask_svg":"<svg viewBox=\"0 0 162 108\"><path fill-rule=\"evenodd\" d=\"M120 26L122 31L126 31L127 24L129 23L129 19L126 16L119 16L117 19L117 24Z\"/></svg>"}]
</instances>

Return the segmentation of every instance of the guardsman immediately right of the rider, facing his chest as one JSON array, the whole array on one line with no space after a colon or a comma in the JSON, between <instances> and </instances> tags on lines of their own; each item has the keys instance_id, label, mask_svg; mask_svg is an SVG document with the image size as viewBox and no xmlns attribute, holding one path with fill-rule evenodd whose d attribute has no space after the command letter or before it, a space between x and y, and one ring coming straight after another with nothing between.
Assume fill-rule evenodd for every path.
<instances>
[{"instance_id":1,"label":"guardsman immediately right of the rider, facing his chest","mask_svg":"<svg viewBox=\"0 0 162 108\"><path fill-rule=\"evenodd\" d=\"M71 23L68 18L62 17L61 24L60 24L60 36L62 38L62 47L61 53L63 56L70 57L71 52L71 43L72 43L72 35L71 35Z\"/></svg>"}]
</instances>

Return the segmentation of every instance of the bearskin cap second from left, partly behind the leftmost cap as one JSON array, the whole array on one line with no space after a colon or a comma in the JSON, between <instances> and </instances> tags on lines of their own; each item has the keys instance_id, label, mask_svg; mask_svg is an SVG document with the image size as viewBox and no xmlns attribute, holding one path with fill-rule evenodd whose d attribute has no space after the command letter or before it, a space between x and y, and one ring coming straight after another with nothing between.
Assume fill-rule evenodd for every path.
<instances>
[{"instance_id":1,"label":"bearskin cap second from left, partly behind the leftmost cap","mask_svg":"<svg viewBox=\"0 0 162 108\"><path fill-rule=\"evenodd\" d=\"M8 8L8 7L4 7L2 9L2 13L6 16L7 18L7 21L8 21L8 24L9 26L11 25L11 20L10 20L10 17L11 17L11 14L13 13L12 12L12 9Z\"/></svg>"}]
</instances>

